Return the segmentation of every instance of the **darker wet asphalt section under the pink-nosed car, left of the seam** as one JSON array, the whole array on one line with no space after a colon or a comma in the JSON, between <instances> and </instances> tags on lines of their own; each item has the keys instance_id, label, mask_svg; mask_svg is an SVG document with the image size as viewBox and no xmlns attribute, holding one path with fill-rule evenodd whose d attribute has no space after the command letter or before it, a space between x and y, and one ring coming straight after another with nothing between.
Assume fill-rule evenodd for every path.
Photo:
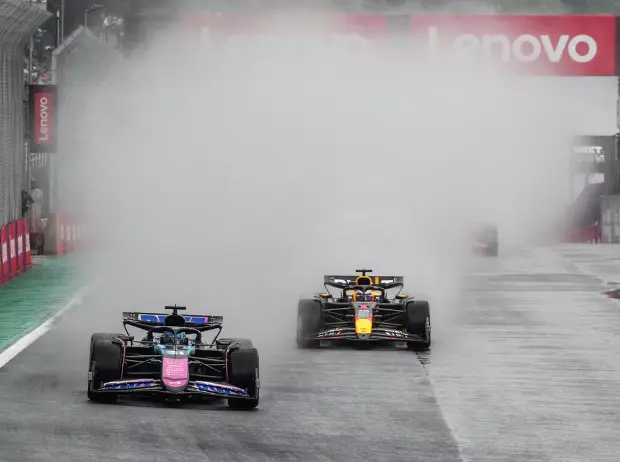
<instances>
[{"instance_id":1,"label":"darker wet asphalt section under the pink-nosed car, left of the seam","mask_svg":"<svg viewBox=\"0 0 620 462\"><path fill-rule=\"evenodd\" d=\"M118 327L120 313L111 317L110 325L93 325L92 313L77 308L0 369L2 462L459 460L409 351L262 354L261 405L253 412L225 402L91 403L89 337ZM70 345L65 339L75 332Z\"/></svg>"}]
</instances>

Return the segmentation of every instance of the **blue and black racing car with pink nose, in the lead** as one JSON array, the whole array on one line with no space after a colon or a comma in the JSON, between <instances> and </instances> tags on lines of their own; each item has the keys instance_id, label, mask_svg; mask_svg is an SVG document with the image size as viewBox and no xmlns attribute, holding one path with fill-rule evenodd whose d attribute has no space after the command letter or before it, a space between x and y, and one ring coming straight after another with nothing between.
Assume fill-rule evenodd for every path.
<instances>
[{"instance_id":1,"label":"blue and black racing car with pink nose, in the lead","mask_svg":"<svg viewBox=\"0 0 620 462\"><path fill-rule=\"evenodd\" d=\"M225 398L232 408L251 409L259 401L258 351L248 339L218 339L222 316L123 313L126 334L93 334L90 342L88 398L119 396L181 402ZM127 327L146 331L141 340ZM211 341L206 332L217 331Z\"/></svg>"}]
</instances>

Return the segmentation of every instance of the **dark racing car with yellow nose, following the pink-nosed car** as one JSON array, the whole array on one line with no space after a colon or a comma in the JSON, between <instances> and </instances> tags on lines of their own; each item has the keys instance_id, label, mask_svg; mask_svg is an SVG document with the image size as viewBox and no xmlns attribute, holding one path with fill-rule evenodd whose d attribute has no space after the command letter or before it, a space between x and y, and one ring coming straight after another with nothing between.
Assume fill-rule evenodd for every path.
<instances>
[{"instance_id":1,"label":"dark racing car with yellow nose, following the pink-nosed car","mask_svg":"<svg viewBox=\"0 0 620 462\"><path fill-rule=\"evenodd\" d=\"M297 346L313 348L325 342L400 342L410 349L431 345L429 303L401 294L402 276L325 276L327 290L299 301ZM332 294L328 287L340 290ZM389 295L390 290L397 290Z\"/></svg>"}]
</instances>

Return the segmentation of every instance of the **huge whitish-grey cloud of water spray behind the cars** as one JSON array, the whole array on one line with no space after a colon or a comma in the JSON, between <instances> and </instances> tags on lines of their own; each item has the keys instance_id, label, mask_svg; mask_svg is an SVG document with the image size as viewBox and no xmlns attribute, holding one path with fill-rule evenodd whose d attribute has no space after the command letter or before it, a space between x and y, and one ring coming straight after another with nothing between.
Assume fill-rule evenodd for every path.
<instances>
[{"instance_id":1,"label":"huge whitish-grey cloud of water spray behind the cars","mask_svg":"<svg viewBox=\"0 0 620 462\"><path fill-rule=\"evenodd\" d=\"M278 34L298 49L162 33L75 108L101 306L223 315L265 356L323 274L368 266L404 275L441 329L476 222L510 248L561 216L581 101L557 79L420 66L399 40L337 46L329 22L294 24Z\"/></svg>"}]
</instances>

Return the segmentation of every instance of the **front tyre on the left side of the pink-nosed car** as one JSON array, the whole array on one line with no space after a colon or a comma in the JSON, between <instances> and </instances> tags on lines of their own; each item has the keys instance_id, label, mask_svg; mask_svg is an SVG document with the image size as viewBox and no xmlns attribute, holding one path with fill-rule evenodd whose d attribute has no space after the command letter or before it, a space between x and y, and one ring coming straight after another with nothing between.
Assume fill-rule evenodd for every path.
<instances>
[{"instance_id":1,"label":"front tyre on the left side of the pink-nosed car","mask_svg":"<svg viewBox=\"0 0 620 462\"><path fill-rule=\"evenodd\" d=\"M90 338L88 361L88 399L96 402L113 402L116 394L97 392L102 383L119 380L123 369L123 344L121 334L93 334Z\"/></svg>"}]
</instances>

